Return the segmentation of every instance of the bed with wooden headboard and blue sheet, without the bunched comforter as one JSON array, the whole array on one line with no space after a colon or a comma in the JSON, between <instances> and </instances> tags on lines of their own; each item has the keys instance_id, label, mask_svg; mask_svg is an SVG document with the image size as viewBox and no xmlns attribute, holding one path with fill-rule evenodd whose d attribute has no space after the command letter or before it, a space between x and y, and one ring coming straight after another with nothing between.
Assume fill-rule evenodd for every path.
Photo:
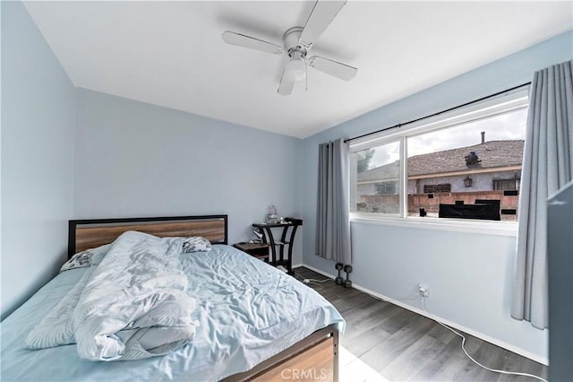
<instances>
[{"instance_id":1,"label":"bed with wooden headboard and blue sheet, without the bunched comforter","mask_svg":"<svg viewBox=\"0 0 573 382\"><path fill-rule=\"evenodd\" d=\"M89 268L71 269L2 322L3 380L338 380L343 318L303 283L227 246L227 215L70 221L69 256L129 230L212 243L210 252L181 256L186 292L198 301L192 343L165 356L109 362L83 360L75 345L29 350L26 334Z\"/></svg>"}]
</instances>

